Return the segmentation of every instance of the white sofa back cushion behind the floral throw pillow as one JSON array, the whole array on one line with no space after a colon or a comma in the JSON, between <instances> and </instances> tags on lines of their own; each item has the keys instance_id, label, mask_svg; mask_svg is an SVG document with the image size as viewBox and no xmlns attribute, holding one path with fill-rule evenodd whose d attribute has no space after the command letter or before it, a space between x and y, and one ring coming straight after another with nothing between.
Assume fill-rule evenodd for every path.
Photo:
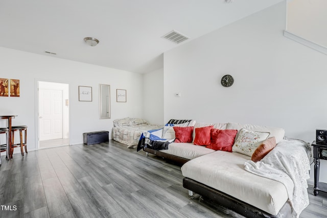
<instances>
[{"instance_id":1,"label":"white sofa back cushion behind the floral throw pillow","mask_svg":"<svg viewBox=\"0 0 327 218\"><path fill-rule=\"evenodd\" d=\"M255 132L269 132L269 137L275 137L276 143L281 141L285 136L285 130L282 128L277 127L265 127L265 126L257 126L252 124L238 124L238 123L228 123L227 129L229 130L238 130L240 131L242 128L250 131ZM239 133L236 135L236 138L238 137Z\"/></svg>"}]
</instances>

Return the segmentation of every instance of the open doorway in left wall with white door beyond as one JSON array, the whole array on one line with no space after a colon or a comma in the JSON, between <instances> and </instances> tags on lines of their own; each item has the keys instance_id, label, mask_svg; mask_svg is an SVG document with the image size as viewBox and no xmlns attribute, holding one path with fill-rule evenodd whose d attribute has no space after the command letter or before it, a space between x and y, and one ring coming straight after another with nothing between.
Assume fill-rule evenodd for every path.
<instances>
[{"instance_id":1,"label":"open doorway in left wall with white door beyond","mask_svg":"<svg viewBox=\"0 0 327 218\"><path fill-rule=\"evenodd\" d=\"M38 81L38 148L69 144L69 85Z\"/></svg>"}]
</instances>

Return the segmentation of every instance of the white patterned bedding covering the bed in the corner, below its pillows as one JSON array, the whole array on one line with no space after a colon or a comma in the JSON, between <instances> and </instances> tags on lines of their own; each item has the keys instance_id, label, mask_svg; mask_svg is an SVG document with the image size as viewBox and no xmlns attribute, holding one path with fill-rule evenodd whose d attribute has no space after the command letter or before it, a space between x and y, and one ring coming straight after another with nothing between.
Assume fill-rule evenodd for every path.
<instances>
[{"instance_id":1,"label":"white patterned bedding covering the bed in the corner, below its pillows","mask_svg":"<svg viewBox=\"0 0 327 218\"><path fill-rule=\"evenodd\" d=\"M162 126L152 124L139 124L133 126L113 127L113 140L127 145L127 148L136 148L141 134L148 130L160 129Z\"/></svg>"}]
</instances>

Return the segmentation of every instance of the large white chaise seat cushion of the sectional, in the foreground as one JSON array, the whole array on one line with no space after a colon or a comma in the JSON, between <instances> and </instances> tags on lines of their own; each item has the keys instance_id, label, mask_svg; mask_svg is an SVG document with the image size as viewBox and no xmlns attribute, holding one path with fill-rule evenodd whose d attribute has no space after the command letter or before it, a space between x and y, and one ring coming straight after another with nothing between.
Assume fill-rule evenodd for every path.
<instances>
[{"instance_id":1,"label":"large white chaise seat cushion of the sectional, in the foreground","mask_svg":"<svg viewBox=\"0 0 327 218\"><path fill-rule=\"evenodd\" d=\"M244 162L250 159L236 152L215 151L186 162L181 171L184 177L277 215L288 200L286 188L280 182L245 171Z\"/></svg>"}]
</instances>

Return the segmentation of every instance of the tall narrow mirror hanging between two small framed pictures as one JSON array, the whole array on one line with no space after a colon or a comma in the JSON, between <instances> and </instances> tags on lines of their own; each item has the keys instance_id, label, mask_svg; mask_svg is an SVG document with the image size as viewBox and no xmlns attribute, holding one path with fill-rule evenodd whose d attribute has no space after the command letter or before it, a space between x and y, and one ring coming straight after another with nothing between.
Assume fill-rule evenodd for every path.
<instances>
[{"instance_id":1,"label":"tall narrow mirror hanging between two small framed pictures","mask_svg":"<svg viewBox=\"0 0 327 218\"><path fill-rule=\"evenodd\" d=\"M110 85L100 84L100 119L110 118Z\"/></svg>"}]
</instances>

